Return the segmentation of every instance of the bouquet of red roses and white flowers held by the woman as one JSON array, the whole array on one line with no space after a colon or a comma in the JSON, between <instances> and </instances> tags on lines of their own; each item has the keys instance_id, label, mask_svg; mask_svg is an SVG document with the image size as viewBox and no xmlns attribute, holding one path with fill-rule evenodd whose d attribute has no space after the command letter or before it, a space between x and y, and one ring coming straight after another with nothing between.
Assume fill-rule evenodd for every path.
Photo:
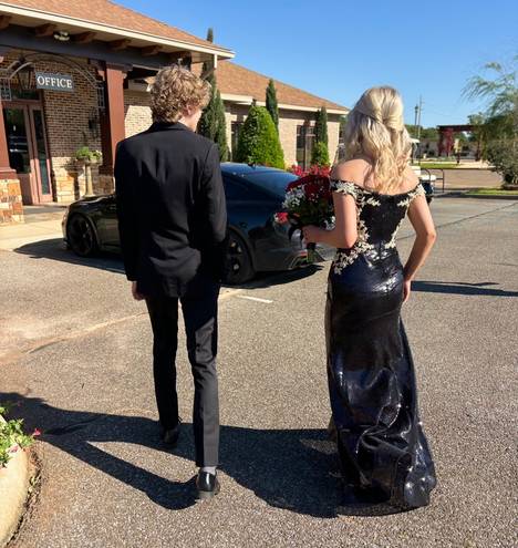
<instances>
[{"instance_id":1,"label":"bouquet of red roses and white flowers held by the woman","mask_svg":"<svg viewBox=\"0 0 518 548\"><path fill-rule=\"evenodd\" d=\"M322 228L334 223L329 168L313 167L286 189L283 207L294 229L308 225ZM315 246L308 244L308 262L315 260Z\"/></svg>"}]
</instances>

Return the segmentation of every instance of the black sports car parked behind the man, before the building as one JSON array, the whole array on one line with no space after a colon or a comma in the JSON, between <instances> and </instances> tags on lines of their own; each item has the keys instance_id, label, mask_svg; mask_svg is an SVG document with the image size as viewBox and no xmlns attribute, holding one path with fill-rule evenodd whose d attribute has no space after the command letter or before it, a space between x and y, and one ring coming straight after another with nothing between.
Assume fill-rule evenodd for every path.
<instances>
[{"instance_id":1,"label":"black sports car parked behind the man, before the building","mask_svg":"<svg viewBox=\"0 0 518 548\"><path fill-rule=\"evenodd\" d=\"M221 164L228 209L227 282L242 283L258 271L291 270L304 265L300 232L290 238L282 215L284 190L296 175L246 164ZM281 215L279 215L281 214ZM120 251L115 195L84 197L71 204L63 236L80 256Z\"/></svg>"}]
</instances>

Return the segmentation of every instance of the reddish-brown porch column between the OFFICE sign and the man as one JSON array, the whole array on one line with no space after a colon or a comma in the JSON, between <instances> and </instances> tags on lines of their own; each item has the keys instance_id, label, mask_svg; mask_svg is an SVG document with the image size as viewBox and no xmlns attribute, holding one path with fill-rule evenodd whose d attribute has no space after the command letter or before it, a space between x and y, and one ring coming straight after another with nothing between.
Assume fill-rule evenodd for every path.
<instances>
[{"instance_id":1,"label":"reddish-brown porch column between the OFFICE sign and the man","mask_svg":"<svg viewBox=\"0 0 518 548\"><path fill-rule=\"evenodd\" d=\"M103 70L106 108L101 117L101 143L103 165L100 173L113 176L113 164L117 143L125 137L124 130L124 79L127 68L105 63Z\"/></svg>"}]
</instances>

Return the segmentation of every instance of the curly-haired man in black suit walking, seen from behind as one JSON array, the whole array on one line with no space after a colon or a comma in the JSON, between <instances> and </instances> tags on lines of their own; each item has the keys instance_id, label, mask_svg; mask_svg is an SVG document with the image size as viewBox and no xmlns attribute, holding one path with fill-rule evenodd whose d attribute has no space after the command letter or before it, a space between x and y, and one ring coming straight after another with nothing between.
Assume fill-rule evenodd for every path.
<instances>
[{"instance_id":1,"label":"curly-haired man in black suit walking, seen from behind","mask_svg":"<svg viewBox=\"0 0 518 548\"><path fill-rule=\"evenodd\" d=\"M162 438L179 435L175 358L182 302L195 400L199 498L219 492L217 309L227 211L218 147L197 135L210 85L179 66L152 85L153 125L118 144L115 190L126 277L145 299L153 328L153 371Z\"/></svg>"}]
</instances>

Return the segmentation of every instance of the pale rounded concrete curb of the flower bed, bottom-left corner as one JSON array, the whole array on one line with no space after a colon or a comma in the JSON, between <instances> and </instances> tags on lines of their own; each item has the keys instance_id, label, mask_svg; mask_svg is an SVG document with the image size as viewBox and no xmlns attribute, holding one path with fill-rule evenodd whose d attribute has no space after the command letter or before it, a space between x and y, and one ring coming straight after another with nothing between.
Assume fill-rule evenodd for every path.
<instances>
[{"instance_id":1,"label":"pale rounded concrete curb of the flower bed, bottom-left corner","mask_svg":"<svg viewBox=\"0 0 518 548\"><path fill-rule=\"evenodd\" d=\"M4 468L0 468L0 547L6 546L18 529L30 478L29 454L22 449L14 453Z\"/></svg>"}]
</instances>

